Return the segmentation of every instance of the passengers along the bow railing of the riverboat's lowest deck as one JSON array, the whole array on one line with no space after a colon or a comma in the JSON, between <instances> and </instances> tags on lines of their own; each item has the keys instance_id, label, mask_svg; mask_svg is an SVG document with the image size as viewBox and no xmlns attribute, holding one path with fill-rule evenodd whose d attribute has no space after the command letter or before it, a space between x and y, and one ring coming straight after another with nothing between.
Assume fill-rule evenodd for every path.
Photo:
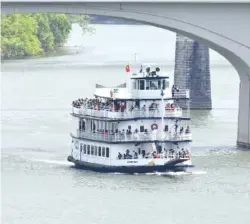
<instances>
[{"instance_id":1,"label":"passengers along the bow railing of the riverboat's lowest deck","mask_svg":"<svg viewBox=\"0 0 250 224\"><path fill-rule=\"evenodd\" d=\"M183 148L179 150L178 148L176 150L174 149L164 149L164 151L153 151L146 153L145 150L142 150L140 153L137 153L133 151L132 154L130 154L130 150L127 149L126 153L121 154L118 153L117 159L149 159L149 158L187 158L189 157L189 151L188 149L184 150Z\"/></svg>"}]
</instances>

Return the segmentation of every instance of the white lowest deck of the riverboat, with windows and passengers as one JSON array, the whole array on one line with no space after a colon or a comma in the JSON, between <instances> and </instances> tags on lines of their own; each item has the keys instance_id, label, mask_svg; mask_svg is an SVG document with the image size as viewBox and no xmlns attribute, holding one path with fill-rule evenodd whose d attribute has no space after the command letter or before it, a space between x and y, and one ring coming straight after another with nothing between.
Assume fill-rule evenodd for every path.
<instances>
[{"instance_id":1,"label":"white lowest deck of the riverboat, with windows and passengers","mask_svg":"<svg viewBox=\"0 0 250 224\"><path fill-rule=\"evenodd\" d=\"M191 166L189 143L105 144L72 139L71 161L91 167Z\"/></svg>"}]
</instances>

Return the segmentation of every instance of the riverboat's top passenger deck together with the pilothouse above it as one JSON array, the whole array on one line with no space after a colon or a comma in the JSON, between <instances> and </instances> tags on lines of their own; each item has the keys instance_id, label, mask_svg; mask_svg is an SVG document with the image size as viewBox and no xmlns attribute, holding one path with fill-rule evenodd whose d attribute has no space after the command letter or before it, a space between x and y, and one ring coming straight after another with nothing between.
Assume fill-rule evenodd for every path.
<instances>
[{"instance_id":1,"label":"riverboat's top passenger deck together with the pilothouse above it","mask_svg":"<svg viewBox=\"0 0 250 224\"><path fill-rule=\"evenodd\" d=\"M169 76L161 74L158 67L130 72L127 82L114 88L97 84L94 95L93 99L74 101L72 115L111 121L190 119L189 107L182 110L178 105L178 100L189 99L189 90L172 86Z\"/></svg>"}]
</instances>

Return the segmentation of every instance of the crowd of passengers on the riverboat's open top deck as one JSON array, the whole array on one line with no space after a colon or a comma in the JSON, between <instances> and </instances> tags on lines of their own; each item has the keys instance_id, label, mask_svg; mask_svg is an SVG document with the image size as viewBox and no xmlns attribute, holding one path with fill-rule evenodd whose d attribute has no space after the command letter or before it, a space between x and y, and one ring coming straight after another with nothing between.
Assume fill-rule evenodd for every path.
<instances>
[{"instance_id":1,"label":"crowd of passengers on the riverboat's open top deck","mask_svg":"<svg viewBox=\"0 0 250 224\"><path fill-rule=\"evenodd\" d=\"M86 108L86 109L92 109L92 110L105 110L105 111L121 111L124 112L126 109L126 104L124 102L117 102L112 100L102 100L100 98L95 99L78 99L72 102L72 106L75 108ZM175 104L167 103L165 106L165 110L174 110L175 108L179 108ZM159 103L151 103L151 105L147 108L147 106L144 104L142 107L138 105L138 103L135 103L129 108L129 111L157 111L159 112L160 106Z\"/></svg>"}]
</instances>

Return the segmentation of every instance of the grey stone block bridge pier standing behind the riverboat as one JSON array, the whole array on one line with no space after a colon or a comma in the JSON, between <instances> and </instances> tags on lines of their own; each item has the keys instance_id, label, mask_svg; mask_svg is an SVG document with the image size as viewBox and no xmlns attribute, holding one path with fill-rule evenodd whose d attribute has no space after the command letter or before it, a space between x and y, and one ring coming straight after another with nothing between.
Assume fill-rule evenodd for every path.
<instances>
[{"instance_id":1,"label":"grey stone block bridge pier standing behind the riverboat","mask_svg":"<svg viewBox=\"0 0 250 224\"><path fill-rule=\"evenodd\" d=\"M209 48L177 34L174 83L190 89L190 109L212 109ZM185 102L180 102L182 107Z\"/></svg>"}]
</instances>

